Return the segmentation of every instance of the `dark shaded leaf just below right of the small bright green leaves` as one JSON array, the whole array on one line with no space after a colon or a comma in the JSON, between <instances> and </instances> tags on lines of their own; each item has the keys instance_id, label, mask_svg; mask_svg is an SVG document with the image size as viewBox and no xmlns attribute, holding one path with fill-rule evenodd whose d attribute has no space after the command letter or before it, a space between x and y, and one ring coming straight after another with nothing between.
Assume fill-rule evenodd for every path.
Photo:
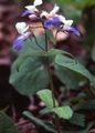
<instances>
[{"instance_id":1,"label":"dark shaded leaf just below right of the small bright green leaves","mask_svg":"<svg viewBox=\"0 0 95 133\"><path fill-rule=\"evenodd\" d=\"M74 113L73 116L70 119L70 123L85 126L85 116L83 114Z\"/></svg>"}]
</instances>

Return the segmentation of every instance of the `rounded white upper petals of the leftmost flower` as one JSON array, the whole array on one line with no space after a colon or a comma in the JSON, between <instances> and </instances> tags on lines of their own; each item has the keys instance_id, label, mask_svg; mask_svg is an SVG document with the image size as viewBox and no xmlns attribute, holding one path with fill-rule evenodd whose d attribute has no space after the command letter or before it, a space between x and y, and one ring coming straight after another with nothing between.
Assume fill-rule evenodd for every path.
<instances>
[{"instance_id":1,"label":"rounded white upper petals of the leftmost flower","mask_svg":"<svg viewBox=\"0 0 95 133\"><path fill-rule=\"evenodd\" d=\"M24 34L28 31L29 25L25 22L18 22L15 28L20 34Z\"/></svg>"}]
</instances>

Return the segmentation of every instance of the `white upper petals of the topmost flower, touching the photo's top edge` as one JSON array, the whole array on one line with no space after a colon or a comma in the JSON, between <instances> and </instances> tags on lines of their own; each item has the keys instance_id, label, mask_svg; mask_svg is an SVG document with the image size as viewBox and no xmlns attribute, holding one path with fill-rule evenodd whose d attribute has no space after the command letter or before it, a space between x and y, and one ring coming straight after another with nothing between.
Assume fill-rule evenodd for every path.
<instances>
[{"instance_id":1,"label":"white upper petals of the topmost flower, touching the photo's top edge","mask_svg":"<svg viewBox=\"0 0 95 133\"><path fill-rule=\"evenodd\" d=\"M27 6L25 8L27 8L31 13L33 13L34 11L39 11L39 10L36 9L36 6L40 6L40 4L42 4L42 0L35 0L35 1L33 2L33 6Z\"/></svg>"}]
</instances>

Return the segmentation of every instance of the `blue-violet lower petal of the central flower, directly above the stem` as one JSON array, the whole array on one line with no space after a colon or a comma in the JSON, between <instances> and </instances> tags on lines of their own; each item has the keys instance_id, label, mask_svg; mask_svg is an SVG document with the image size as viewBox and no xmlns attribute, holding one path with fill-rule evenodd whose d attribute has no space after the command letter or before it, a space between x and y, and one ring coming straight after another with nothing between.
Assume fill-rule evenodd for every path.
<instances>
[{"instance_id":1,"label":"blue-violet lower petal of the central flower, directly above the stem","mask_svg":"<svg viewBox=\"0 0 95 133\"><path fill-rule=\"evenodd\" d=\"M51 29L52 27L59 27L61 21L59 18L49 18L44 21L44 28Z\"/></svg>"}]
</instances>

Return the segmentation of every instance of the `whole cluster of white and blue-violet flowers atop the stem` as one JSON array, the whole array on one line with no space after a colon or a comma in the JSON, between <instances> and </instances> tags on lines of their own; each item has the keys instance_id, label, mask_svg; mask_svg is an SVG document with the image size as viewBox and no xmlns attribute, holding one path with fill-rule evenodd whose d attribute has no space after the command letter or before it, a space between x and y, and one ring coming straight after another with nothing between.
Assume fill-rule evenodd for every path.
<instances>
[{"instance_id":1,"label":"whole cluster of white and blue-violet flowers atop the stem","mask_svg":"<svg viewBox=\"0 0 95 133\"><path fill-rule=\"evenodd\" d=\"M75 35L80 35L80 32L76 28L72 27L73 20L66 20L65 17L59 14L60 7L54 4L54 8L50 11L39 11L38 6L41 6L42 0L35 0L33 4L27 6L25 10L22 13L22 17L28 16L32 21L33 18L39 19L42 22L44 29L56 28L63 32L73 32ZM24 43L31 34L30 25L25 22L18 22L15 28L20 35L14 40L13 48L15 50L21 50Z\"/></svg>"}]
</instances>

